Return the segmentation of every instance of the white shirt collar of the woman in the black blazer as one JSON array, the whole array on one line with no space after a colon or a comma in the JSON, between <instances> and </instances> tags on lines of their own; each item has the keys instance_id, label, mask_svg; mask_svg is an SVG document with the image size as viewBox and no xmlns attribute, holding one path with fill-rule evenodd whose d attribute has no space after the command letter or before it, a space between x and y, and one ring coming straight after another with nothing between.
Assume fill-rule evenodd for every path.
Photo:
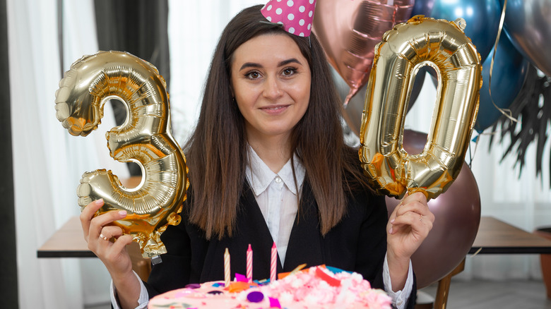
<instances>
[{"instance_id":1,"label":"white shirt collar of the woman in the black blazer","mask_svg":"<svg viewBox=\"0 0 551 309\"><path fill-rule=\"evenodd\" d=\"M262 193L274 178L279 176L285 186L295 195L297 195L297 187L295 186L295 181L292 179L292 169L291 169L291 159L281 168L278 174L275 174L269 167L262 161L254 149L249 145L250 152L250 162L247 164L245 169L245 174L247 176L247 181L251 185L251 188L255 195ZM302 187L302 182L304 181L304 166L298 159L296 154L293 154L293 162L295 163L295 175L297 176L297 186L300 189Z\"/></svg>"}]
</instances>

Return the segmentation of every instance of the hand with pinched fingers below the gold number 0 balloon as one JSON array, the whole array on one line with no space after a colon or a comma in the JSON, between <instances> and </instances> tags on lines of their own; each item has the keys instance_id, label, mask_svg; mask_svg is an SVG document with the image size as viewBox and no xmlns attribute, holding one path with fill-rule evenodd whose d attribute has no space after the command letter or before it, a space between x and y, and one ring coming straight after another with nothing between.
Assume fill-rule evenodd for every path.
<instances>
[{"instance_id":1,"label":"hand with pinched fingers below the gold number 0 balloon","mask_svg":"<svg viewBox=\"0 0 551 309\"><path fill-rule=\"evenodd\" d=\"M433 222L434 214L430 212L423 193L405 195L386 224L389 257L409 261L427 238Z\"/></svg>"}]
</instances>

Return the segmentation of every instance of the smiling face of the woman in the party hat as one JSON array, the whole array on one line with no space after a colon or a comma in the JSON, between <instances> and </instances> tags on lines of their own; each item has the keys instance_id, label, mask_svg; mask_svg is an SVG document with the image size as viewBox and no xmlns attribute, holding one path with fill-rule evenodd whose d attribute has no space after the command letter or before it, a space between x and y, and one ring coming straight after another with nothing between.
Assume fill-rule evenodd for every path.
<instances>
[{"instance_id":1,"label":"smiling face of the woman in the party hat","mask_svg":"<svg viewBox=\"0 0 551 309\"><path fill-rule=\"evenodd\" d=\"M232 56L232 92L244 116L247 138L288 138L310 99L306 58L287 35L260 35Z\"/></svg>"}]
</instances>

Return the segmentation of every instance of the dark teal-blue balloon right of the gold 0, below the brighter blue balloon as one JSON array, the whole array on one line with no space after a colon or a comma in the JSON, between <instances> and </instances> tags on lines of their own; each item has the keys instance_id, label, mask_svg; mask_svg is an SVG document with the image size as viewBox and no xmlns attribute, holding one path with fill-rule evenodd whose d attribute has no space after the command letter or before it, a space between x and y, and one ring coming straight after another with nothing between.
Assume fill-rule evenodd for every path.
<instances>
[{"instance_id":1,"label":"dark teal-blue balloon right of the gold 0, below the brighter blue balloon","mask_svg":"<svg viewBox=\"0 0 551 309\"><path fill-rule=\"evenodd\" d=\"M480 88L480 105L475 130L481 133L492 126L502 113L494 107L492 99L497 107L507 109L511 106L528 73L529 61L513 46L506 35L499 37L497 52L492 71L492 97L490 97L490 66L492 55L482 63L482 88Z\"/></svg>"}]
</instances>

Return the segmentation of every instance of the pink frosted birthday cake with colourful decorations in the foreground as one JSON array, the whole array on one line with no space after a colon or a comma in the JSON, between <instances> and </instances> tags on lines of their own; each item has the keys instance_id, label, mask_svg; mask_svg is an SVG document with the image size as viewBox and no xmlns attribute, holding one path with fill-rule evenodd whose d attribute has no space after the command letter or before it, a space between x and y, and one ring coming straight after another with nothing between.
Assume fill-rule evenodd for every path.
<instances>
[{"instance_id":1,"label":"pink frosted birthday cake with colourful decorations in the foreground","mask_svg":"<svg viewBox=\"0 0 551 309\"><path fill-rule=\"evenodd\" d=\"M273 282L235 279L228 286L224 281L189 285L155 296L148 308L390 309L391 298L372 289L361 274L316 266Z\"/></svg>"}]
</instances>

